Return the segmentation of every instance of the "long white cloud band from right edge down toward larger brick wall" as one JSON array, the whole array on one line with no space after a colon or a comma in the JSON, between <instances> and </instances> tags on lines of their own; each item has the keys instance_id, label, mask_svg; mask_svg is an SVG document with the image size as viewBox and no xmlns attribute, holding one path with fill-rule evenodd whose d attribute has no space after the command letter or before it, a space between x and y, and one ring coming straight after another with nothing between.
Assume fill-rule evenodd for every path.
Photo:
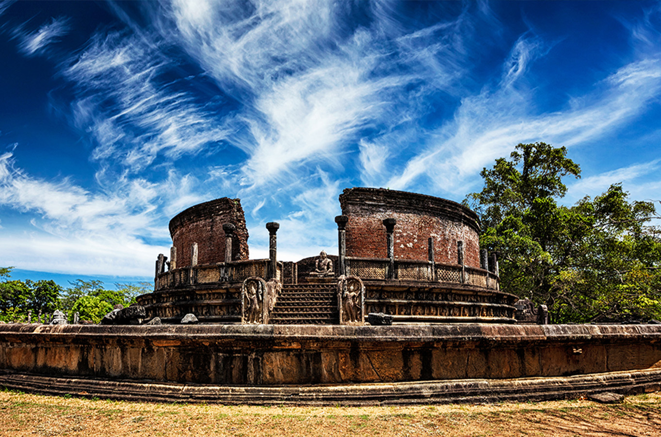
<instances>
[{"instance_id":1,"label":"long white cloud band from right edge down toward larger brick wall","mask_svg":"<svg viewBox=\"0 0 661 437\"><path fill-rule=\"evenodd\" d=\"M504 83L507 86L463 99L452 123L436 131L441 140L408 160L389 186L407 189L427 176L436 189L465 193L483 166L506 156L518 143L573 146L603 137L658 98L661 61L650 58L625 65L571 108L551 114L535 114L529 104L532 91L518 89L509 80Z\"/></svg>"}]
</instances>

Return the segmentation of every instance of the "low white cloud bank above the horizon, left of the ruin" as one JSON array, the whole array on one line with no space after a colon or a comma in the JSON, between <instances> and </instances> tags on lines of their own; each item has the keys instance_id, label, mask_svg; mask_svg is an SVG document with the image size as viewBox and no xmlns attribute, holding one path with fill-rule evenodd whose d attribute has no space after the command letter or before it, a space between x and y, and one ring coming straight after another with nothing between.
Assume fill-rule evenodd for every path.
<instances>
[{"instance_id":1,"label":"low white cloud bank above the horizon, left of the ruin","mask_svg":"<svg viewBox=\"0 0 661 437\"><path fill-rule=\"evenodd\" d=\"M144 237L167 238L155 226L157 191L141 180L123 190L95 194L69 180L48 182L15 167L11 153L0 156L0 207L24 213L32 226L0 235L0 264L21 269L89 275L151 275L164 248ZM45 265L47 264L47 265Z\"/></svg>"}]
</instances>

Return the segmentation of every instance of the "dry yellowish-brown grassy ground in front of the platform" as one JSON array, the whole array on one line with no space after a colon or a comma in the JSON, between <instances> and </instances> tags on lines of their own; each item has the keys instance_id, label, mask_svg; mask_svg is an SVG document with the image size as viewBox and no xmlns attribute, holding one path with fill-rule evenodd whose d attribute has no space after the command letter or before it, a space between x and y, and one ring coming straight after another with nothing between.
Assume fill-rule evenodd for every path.
<instances>
[{"instance_id":1,"label":"dry yellowish-brown grassy ground in front of the platform","mask_svg":"<svg viewBox=\"0 0 661 437\"><path fill-rule=\"evenodd\" d=\"M661 392L587 400L414 407L255 407L0 391L0 436L661 436Z\"/></svg>"}]
</instances>

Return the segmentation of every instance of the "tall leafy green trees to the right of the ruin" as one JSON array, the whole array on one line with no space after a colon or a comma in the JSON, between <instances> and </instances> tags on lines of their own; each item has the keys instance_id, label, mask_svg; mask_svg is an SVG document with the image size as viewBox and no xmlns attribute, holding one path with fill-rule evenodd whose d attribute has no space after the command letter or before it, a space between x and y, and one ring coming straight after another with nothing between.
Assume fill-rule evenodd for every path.
<instances>
[{"instance_id":1,"label":"tall leafy green trees to the right of the ruin","mask_svg":"<svg viewBox=\"0 0 661 437\"><path fill-rule=\"evenodd\" d=\"M566 149L518 145L481 172L465 201L480 215L481 246L498 253L501 289L546 304L555 321L661 318L661 232L654 204L621 185L573 207L557 205L564 176L580 177Z\"/></svg>"}]
</instances>

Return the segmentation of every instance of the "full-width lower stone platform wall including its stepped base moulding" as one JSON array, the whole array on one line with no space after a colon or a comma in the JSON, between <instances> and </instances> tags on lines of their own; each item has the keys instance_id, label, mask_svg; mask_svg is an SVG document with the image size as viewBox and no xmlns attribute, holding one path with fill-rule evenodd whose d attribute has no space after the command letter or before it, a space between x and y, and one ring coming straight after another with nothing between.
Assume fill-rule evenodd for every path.
<instances>
[{"instance_id":1,"label":"full-width lower stone platform wall including its stepped base moulding","mask_svg":"<svg viewBox=\"0 0 661 437\"><path fill-rule=\"evenodd\" d=\"M661 384L661 325L0 325L0 386L223 403L557 399Z\"/></svg>"}]
</instances>

